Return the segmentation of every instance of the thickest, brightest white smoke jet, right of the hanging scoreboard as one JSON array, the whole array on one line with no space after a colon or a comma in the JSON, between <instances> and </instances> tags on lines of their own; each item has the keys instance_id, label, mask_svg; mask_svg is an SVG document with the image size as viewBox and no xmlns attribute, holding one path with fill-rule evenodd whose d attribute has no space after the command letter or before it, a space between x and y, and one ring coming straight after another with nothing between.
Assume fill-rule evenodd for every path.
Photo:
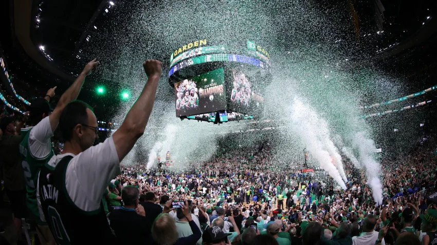
<instances>
[{"instance_id":1,"label":"thickest, brightest white smoke jet, right of the hanging scoreboard","mask_svg":"<svg viewBox=\"0 0 437 245\"><path fill-rule=\"evenodd\" d=\"M320 168L329 173L338 185L345 190L346 185L336 167L331 163L329 152L322 147L325 144L321 141L320 130L327 131L327 129L321 129L321 125L318 122L323 121L323 118L317 115L309 106L304 106L297 98L294 99L291 112L292 120L290 122L292 123L292 129L299 135L309 153L317 159Z\"/></svg>"}]
</instances>

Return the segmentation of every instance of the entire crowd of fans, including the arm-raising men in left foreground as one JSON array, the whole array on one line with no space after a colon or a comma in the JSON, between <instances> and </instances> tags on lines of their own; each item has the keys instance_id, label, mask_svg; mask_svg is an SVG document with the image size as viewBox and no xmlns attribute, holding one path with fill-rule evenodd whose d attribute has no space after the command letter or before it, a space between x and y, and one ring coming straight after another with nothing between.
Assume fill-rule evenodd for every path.
<instances>
[{"instance_id":1,"label":"entire crowd of fans, including the arm-raising men in left foreground","mask_svg":"<svg viewBox=\"0 0 437 245\"><path fill-rule=\"evenodd\" d=\"M53 112L48 101L55 88L33 101L21 119L27 127L12 117L1 120L2 196L10 200L18 243L26 242L22 218L35 222L41 244L437 241L437 207L428 198L437 178L433 135L396 161L383 162L383 203L374 202L364 172L348 159L347 189L341 190L318 171L278 167L268 144L224 149L184 171L120 166L144 132L161 64L143 64L144 90L120 128L93 146L97 119L75 99L96 65L95 60L86 65ZM63 144L50 140L57 128Z\"/></svg>"}]
</instances>

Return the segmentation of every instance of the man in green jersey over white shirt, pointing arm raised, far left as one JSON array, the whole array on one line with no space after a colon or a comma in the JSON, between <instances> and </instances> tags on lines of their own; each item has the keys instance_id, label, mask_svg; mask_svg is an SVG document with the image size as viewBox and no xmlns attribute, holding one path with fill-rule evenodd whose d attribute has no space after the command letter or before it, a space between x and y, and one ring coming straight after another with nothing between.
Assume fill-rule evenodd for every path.
<instances>
[{"instance_id":1,"label":"man in green jersey over white shirt, pointing arm raised, far left","mask_svg":"<svg viewBox=\"0 0 437 245\"><path fill-rule=\"evenodd\" d=\"M59 118L64 107L77 98L85 77L95 69L96 59L89 62L74 83L62 94L57 107L50 114L50 98L54 96L56 87L49 89L44 98L32 101L30 107L30 127L21 130L23 140L20 143L20 153L23 156L22 167L26 179L26 206L29 218L36 221L37 233L42 243L52 244L54 238L45 220L41 219L38 208L38 175L46 162L54 155L50 138L58 127Z\"/></svg>"}]
</instances>

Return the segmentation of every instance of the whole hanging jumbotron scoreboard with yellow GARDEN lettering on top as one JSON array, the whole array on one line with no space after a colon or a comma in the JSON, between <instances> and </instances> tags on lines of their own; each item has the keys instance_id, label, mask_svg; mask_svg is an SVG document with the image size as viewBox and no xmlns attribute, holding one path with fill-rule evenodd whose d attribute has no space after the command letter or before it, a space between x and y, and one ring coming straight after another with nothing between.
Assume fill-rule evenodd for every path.
<instances>
[{"instance_id":1,"label":"whole hanging jumbotron scoreboard with yellow GARDEN lettering on top","mask_svg":"<svg viewBox=\"0 0 437 245\"><path fill-rule=\"evenodd\" d=\"M223 123L256 117L270 81L270 54L252 40L224 44L199 39L170 56L169 84L181 119Z\"/></svg>"}]
</instances>

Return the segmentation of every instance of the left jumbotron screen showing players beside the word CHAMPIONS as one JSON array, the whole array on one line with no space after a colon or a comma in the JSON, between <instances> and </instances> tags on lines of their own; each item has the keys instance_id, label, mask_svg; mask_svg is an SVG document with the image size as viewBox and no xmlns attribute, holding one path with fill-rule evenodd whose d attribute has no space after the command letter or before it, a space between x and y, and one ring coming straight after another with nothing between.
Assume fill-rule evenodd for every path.
<instances>
[{"instance_id":1,"label":"left jumbotron screen showing players beside the word CHAMPIONS","mask_svg":"<svg viewBox=\"0 0 437 245\"><path fill-rule=\"evenodd\" d=\"M174 84L176 116L188 116L226 110L223 68Z\"/></svg>"}]
</instances>

